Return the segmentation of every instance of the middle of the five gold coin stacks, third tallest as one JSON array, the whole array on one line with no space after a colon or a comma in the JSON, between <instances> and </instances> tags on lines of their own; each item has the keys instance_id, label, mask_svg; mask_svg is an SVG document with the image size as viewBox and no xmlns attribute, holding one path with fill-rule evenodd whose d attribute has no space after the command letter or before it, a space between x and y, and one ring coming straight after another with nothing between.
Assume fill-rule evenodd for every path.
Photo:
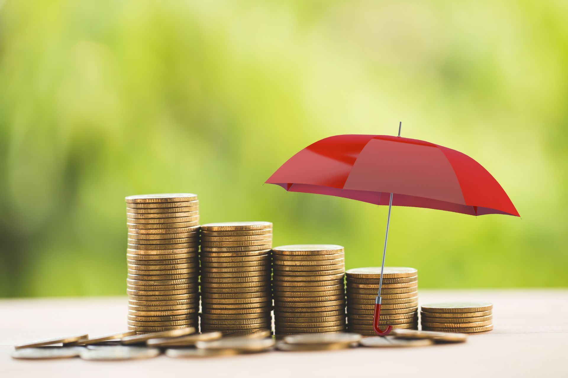
<instances>
[{"instance_id":1,"label":"middle of the five gold coin stacks, third tallest","mask_svg":"<svg viewBox=\"0 0 568 378\"><path fill-rule=\"evenodd\" d=\"M345 331L344 257L333 244L272 249L276 334Z\"/></svg>"}]
</instances>

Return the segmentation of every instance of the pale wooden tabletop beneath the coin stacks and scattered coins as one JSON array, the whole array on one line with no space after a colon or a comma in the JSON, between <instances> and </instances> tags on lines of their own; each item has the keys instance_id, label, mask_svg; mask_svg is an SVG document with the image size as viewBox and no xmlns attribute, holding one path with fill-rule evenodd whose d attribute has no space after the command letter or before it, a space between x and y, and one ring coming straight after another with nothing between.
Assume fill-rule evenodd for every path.
<instances>
[{"instance_id":1,"label":"pale wooden tabletop beneath the coin stacks and scattered coins","mask_svg":"<svg viewBox=\"0 0 568 378\"><path fill-rule=\"evenodd\" d=\"M126 329L126 298L0 300L2 377L556 377L568 376L568 290L420 290L421 303L483 300L495 329L466 343L409 349L267 352L215 359L94 362L15 360L13 345L61 335Z\"/></svg>"}]
</instances>

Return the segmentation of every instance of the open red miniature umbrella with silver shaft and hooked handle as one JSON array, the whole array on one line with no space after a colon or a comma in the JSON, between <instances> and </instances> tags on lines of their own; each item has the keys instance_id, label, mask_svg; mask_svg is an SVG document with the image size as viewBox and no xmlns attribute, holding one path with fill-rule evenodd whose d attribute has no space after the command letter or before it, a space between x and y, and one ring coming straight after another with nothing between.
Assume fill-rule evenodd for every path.
<instances>
[{"instance_id":1,"label":"open red miniature umbrella with silver shaft and hooked handle","mask_svg":"<svg viewBox=\"0 0 568 378\"><path fill-rule=\"evenodd\" d=\"M379 335L382 269L392 206L469 215L519 216L499 182L478 162L451 148L390 135L336 135L298 152L266 182L289 192L327 194L389 205L373 328Z\"/></svg>"}]
</instances>

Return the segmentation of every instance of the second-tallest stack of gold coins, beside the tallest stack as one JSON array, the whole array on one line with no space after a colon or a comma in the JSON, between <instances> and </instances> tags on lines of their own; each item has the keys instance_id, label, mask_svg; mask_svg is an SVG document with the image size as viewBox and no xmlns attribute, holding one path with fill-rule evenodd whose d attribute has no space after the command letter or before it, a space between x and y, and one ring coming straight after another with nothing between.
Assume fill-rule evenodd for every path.
<instances>
[{"instance_id":1,"label":"second-tallest stack of gold coins, beside the tallest stack","mask_svg":"<svg viewBox=\"0 0 568 378\"><path fill-rule=\"evenodd\" d=\"M201 227L201 331L272 328L272 223L209 223Z\"/></svg>"}]
</instances>

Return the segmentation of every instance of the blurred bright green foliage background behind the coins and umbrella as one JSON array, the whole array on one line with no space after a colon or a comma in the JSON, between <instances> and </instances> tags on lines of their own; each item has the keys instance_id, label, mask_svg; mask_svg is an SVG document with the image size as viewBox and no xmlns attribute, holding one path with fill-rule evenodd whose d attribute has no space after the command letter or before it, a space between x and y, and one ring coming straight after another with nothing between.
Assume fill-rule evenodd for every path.
<instances>
[{"instance_id":1,"label":"blurred bright green foliage background behind the coins and umbrella","mask_svg":"<svg viewBox=\"0 0 568 378\"><path fill-rule=\"evenodd\" d=\"M568 2L0 1L0 296L124 294L124 196L380 265L386 208L262 183L334 134L484 165L522 219L395 207L421 287L568 286Z\"/></svg>"}]
</instances>

